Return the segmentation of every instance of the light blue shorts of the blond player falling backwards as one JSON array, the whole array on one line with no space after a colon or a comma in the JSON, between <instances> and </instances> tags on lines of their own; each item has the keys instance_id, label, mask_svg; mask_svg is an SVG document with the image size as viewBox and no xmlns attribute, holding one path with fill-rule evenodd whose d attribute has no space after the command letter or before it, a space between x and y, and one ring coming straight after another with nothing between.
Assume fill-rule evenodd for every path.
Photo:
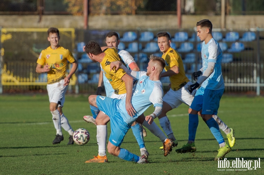
<instances>
[{"instance_id":1,"label":"light blue shorts of the blond player falling backwards","mask_svg":"<svg viewBox=\"0 0 264 175\"><path fill-rule=\"evenodd\" d=\"M99 110L110 117L111 134L109 136L109 142L118 147L120 147L123 142L128 129L131 128L131 125L124 122L123 117L117 109L117 105L120 101L121 99L105 96L97 96L96 98Z\"/></svg>"}]
</instances>

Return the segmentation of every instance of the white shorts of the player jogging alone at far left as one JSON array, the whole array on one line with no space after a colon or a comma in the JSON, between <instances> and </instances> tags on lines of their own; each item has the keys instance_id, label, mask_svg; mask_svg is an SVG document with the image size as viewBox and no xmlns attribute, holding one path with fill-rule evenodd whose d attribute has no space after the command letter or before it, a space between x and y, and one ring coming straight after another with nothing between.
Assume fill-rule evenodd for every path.
<instances>
[{"instance_id":1,"label":"white shorts of the player jogging alone at far left","mask_svg":"<svg viewBox=\"0 0 264 175\"><path fill-rule=\"evenodd\" d=\"M63 86L64 79L60 80L57 83L47 84L47 91L49 96L50 103L59 103L59 106L63 106L65 102L65 93L68 86Z\"/></svg>"}]
</instances>

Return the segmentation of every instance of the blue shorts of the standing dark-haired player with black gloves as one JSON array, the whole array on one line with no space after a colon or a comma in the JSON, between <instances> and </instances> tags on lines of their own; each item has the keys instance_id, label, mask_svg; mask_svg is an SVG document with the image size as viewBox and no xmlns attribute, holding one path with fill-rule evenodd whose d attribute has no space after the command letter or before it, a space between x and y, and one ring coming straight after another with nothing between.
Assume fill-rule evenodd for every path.
<instances>
[{"instance_id":1,"label":"blue shorts of the standing dark-haired player with black gloves","mask_svg":"<svg viewBox=\"0 0 264 175\"><path fill-rule=\"evenodd\" d=\"M202 114L217 115L223 93L224 89L211 90L200 87L194 96L190 108L197 111L202 110Z\"/></svg>"}]
</instances>

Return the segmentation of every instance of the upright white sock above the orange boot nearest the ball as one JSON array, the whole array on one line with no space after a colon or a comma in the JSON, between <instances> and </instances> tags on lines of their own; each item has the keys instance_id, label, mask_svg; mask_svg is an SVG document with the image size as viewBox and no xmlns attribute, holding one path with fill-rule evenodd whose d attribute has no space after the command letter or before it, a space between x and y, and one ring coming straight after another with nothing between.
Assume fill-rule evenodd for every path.
<instances>
[{"instance_id":1,"label":"upright white sock above the orange boot nearest the ball","mask_svg":"<svg viewBox=\"0 0 264 175\"><path fill-rule=\"evenodd\" d=\"M106 155L107 125L97 125L98 155Z\"/></svg>"}]
</instances>

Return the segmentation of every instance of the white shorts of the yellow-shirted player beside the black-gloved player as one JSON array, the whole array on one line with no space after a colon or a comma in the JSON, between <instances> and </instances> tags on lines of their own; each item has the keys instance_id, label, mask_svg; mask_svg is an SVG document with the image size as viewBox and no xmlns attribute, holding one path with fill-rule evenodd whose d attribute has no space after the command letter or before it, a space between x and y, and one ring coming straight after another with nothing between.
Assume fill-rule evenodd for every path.
<instances>
[{"instance_id":1,"label":"white shorts of the yellow-shirted player beside the black-gloved player","mask_svg":"<svg viewBox=\"0 0 264 175\"><path fill-rule=\"evenodd\" d=\"M182 103L190 106L192 104L193 98L196 93L196 89L192 91L192 94L188 91L188 87L192 85L192 82L188 82L181 89L177 91L173 91L170 89L165 96L163 97L163 101L168 103L172 109L178 108Z\"/></svg>"}]
</instances>

